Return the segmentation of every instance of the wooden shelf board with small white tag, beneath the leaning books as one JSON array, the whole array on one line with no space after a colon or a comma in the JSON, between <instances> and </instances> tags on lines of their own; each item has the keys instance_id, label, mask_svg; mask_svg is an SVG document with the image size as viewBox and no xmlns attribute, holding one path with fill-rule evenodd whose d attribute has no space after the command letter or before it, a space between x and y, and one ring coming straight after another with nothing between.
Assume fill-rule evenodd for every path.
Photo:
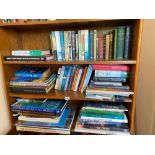
<instances>
[{"instance_id":1,"label":"wooden shelf board with small white tag, beneath the leaning books","mask_svg":"<svg viewBox=\"0 0 155 155\"><path fill-rule=\"evenodd\" d=\"M52 90L48 94L17 94L17 93L9 93L10 97L21 97L21 98L32 98L32 99L68 99L68 100L80 100L80 101L101 101L98 99L91 99L86 98L85 94L82 94L80 92L73 92L73 91L57 91ZM111 101L113 102L113 101ZM127 98L124 102L132 102L132 99Z\"/></svg>"}]
</instances>

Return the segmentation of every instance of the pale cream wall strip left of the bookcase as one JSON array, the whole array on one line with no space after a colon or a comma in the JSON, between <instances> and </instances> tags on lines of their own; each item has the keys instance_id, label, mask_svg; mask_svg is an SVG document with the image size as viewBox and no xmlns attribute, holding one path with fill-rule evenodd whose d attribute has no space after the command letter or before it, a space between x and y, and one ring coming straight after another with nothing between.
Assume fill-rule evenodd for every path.
<instances>
[{"instance_id":1,"label":"pale cream wall strip left of the bookcase","mask_svg":"<svg viewBox=\"0 0 155 155\"><path fill-rule=\"evenodd\" d=\"M0 63L0 135L6 134L10 130L10 120L2 78L2 66Z\"/></svg>"}]
</instances>

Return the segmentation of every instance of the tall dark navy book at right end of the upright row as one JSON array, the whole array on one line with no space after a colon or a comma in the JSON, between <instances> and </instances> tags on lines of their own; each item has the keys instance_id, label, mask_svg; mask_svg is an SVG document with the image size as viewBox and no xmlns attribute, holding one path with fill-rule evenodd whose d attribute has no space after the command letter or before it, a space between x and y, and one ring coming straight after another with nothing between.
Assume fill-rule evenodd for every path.
<instances>
[{"instance_id":1,"label":"tall dark navy book at right end of the upright row","mask_svg":"<svg viewBox=\"0 0 155 155\"><path fill-rule=\"evenodd\" d=\"M131 51L131 27L127 26L125 33L124 59L130 58L130 51Z\"/></svg>"}]
</instances>

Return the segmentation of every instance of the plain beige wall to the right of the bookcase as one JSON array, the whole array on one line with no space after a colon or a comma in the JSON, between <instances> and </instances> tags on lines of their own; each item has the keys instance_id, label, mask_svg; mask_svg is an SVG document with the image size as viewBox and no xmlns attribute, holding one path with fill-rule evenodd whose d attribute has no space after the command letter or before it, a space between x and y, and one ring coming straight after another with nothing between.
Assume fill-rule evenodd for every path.
<instances>
[{"instance_id":1,"label":"plain beige wall to the right of the bookcase","mask_svg":"<svg viewBox=\"0 0 155 155\"><path fill-rule=\"evenodd\" d=\"M155 134L155 20L144 20L136 122L137 134Z\"/></svg>"}]
</instances>

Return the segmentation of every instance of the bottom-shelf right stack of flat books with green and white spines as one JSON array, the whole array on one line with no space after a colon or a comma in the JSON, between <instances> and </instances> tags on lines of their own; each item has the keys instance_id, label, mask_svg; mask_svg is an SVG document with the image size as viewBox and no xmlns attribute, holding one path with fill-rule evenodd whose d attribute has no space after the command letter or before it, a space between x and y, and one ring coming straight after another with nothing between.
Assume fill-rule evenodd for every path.
<instances>
[{"instance_id":1,"label":"bottom-shelf right stack of flat books with green and white spines","mask_svg":"<svg viewBox=\"0 0 155 155\"><path fill-rule=\"evenodd\" d=\"M75 132L93 134L130 134L126 107L122 103L85 102Z\"/></svg>"}]
</instances>

